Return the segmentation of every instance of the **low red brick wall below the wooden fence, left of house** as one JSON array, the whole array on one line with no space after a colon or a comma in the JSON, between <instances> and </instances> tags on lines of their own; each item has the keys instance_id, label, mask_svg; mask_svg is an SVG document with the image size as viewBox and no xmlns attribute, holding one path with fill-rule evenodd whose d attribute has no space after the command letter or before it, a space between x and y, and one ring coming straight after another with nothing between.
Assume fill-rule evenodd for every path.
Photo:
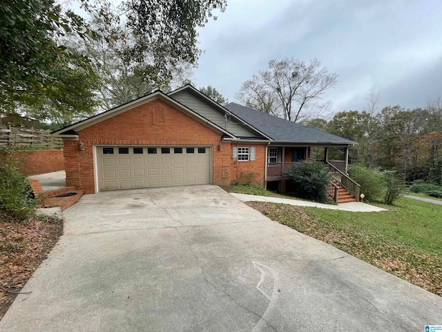
<instances>
[{"instance_id":1,"label":"low red brick wall below the wooden fence, left of house","mask_svg":"<svg viewBox=\"0 0 442 332\"><path fill-rule=\"evenodd\" d=\"M17 167L25 175L44 174L64 169L64 155L61 150L17 151L12 153ZM0 154L3 160L8 154Z\"/></svg>"}]
</instances>

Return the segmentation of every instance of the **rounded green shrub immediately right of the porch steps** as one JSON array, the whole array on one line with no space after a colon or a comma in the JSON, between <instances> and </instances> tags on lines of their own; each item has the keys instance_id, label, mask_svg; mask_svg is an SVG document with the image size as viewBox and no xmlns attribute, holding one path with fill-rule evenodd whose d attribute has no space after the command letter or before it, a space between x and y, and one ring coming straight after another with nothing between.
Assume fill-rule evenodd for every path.
<instances>
[{"instance_id":1,"label":"rounded green shrub immediately right of the porch steps","mask_svg":"<svg viewBox=\"0 0 442 332\"><path fill-rule=\"evenodd\" d=\"M385 192L383 172L364 165L349 165L348 173L352 180L361 185L361 194L365 195L365 199L381 199Z\"/></svg>"}]
</instances>

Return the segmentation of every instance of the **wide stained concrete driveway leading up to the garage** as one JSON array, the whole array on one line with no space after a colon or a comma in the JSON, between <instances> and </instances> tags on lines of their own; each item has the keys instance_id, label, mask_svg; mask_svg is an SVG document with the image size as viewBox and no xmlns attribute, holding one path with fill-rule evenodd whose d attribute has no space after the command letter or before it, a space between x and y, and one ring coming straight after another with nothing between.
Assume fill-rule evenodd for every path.
<instances>
[{"instance_id":1,"label":"wide stained concrete driveway leading up to the garage","mask_svg":"<svg viewBox=\"0 0 442 332\"><path fill-rule=\"evenodd\" d=\"M86 195L1 331L423 331L442 298L218 187Z\"/></svg>"}]
</instances>

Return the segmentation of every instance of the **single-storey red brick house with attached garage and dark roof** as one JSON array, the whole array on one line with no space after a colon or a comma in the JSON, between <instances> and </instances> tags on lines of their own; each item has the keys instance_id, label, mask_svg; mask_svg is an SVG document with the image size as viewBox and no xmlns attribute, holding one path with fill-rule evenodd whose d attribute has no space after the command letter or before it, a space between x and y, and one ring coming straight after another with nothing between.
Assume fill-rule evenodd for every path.
<instances>
[{"instance_id":1,"label":"single-storey red brick house with attached garage and dark roof","mask_svg":"<svg viewBox=\"0 0 442 332\"><path fill-rule=\"evenodd\" d=\"M352 140L230 103L191 85L155 91L52 133L64 140L66 185L104 190L213 184L253 179L279 184L292 163L324 147L323 161L345 176ZM330 161L329 147L345 150ZM276 182L275 182L276 181Z\"/></svg>"}]
</instances>

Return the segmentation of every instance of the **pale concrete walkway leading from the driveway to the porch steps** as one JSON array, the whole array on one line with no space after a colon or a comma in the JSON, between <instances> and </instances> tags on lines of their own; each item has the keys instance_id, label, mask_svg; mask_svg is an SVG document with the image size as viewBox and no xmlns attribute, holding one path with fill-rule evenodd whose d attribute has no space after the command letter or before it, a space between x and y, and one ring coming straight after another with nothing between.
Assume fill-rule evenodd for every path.
<instances>
[{"instance_id":1,"label":"pale concrete walkway leading from the driveway to the porch steps","mask_svg":"<svg viewBox=\"0 0 442 332\"><path fill-rule=\"evenodd\" d=\"M369 205L361 202L352 203L340 203L338 205L334 204L323 204L315 203L310 201L299 201L297 199L280 199L279 197L270 196L256 196L248 194L236 194L235 192L230 193L236 199L242 202L269 202L269 203L281 203L296 206L309 206L312 208L329 209L329 210L341 210L341 211L351 211L351 212L381 212L386 211L383 208L378 208L374 205Z\"/></svg>"}]
</instances>

